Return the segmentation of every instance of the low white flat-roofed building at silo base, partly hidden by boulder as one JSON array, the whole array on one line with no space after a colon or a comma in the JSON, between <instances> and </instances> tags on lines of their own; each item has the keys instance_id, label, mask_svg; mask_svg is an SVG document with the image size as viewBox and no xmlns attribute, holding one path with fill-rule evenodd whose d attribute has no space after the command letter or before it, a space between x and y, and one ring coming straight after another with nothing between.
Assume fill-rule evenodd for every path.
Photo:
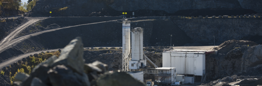
<instances>
[{"instance_id":1,"label":"low white flat-roofed building at silo base, partly hidden by boulder","mask_svg":"<svg viewBox=\"0 0 262 86\"><path fill-rule=\"evenodd\" d=\"M140 82L143 82L144 80L143 71L127 71L126 73L128 73L129 75L131 75L132 77L134 77L135 79L137 79Z\"/></svg>"}]
</instances>

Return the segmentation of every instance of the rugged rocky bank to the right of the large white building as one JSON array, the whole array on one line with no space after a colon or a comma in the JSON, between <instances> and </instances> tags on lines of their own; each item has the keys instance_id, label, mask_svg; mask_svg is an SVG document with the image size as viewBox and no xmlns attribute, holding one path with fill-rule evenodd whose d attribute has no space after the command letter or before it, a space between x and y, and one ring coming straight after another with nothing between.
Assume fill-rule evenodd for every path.
<instances>
[{"instance_id":1,"label":"rugged rocky bank to the right of the large white building","mask_svg":"<svg viewBox=\"0 0 262 86\"><path fill-rule=\"evenodd\" d=\"M261 76L261 45L235 45L226 54L206 55L206 72L210 78L245 75Z\"/></svg>"}]
</instances>

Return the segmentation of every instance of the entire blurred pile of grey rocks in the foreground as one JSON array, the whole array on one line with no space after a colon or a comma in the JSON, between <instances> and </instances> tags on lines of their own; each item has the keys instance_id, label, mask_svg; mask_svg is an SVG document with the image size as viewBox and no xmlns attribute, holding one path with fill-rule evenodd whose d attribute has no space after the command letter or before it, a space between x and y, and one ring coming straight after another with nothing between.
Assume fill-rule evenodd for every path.
<instances>
[{"instance_id":1,"label":"entire blurred pile of grey rocks in the foreground","mask_svg":"<svg viewBox=\"0 0 262 86\"><path fill-rule=\"evenodd\" d=\"M99 61L84 64L80 37L70 41L59 57L37 65L30 75L18 73L13 86L145 86L125 72L108 71Z\"/></svg>"}]
</instances>

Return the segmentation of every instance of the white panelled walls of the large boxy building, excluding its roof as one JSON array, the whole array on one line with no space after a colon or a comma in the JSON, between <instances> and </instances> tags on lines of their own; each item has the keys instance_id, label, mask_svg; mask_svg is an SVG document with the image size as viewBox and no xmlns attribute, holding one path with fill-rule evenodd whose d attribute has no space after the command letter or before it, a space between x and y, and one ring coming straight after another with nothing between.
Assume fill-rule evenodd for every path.
<instances>
[{"instance_id":1,"label":"white panelled walls of the large boxy building, excluding its roof","mask_svg":"<svg viewBox=\"0 0 262 86\"><path fill-rule=\"evenodd\" d=\"M171 54L171 62L170 62ZM186 58L185 58L186 56ZM163 67L176 67L177 74L202 76L205 54L163 52Z\"/></svg>"}]
</instances>

